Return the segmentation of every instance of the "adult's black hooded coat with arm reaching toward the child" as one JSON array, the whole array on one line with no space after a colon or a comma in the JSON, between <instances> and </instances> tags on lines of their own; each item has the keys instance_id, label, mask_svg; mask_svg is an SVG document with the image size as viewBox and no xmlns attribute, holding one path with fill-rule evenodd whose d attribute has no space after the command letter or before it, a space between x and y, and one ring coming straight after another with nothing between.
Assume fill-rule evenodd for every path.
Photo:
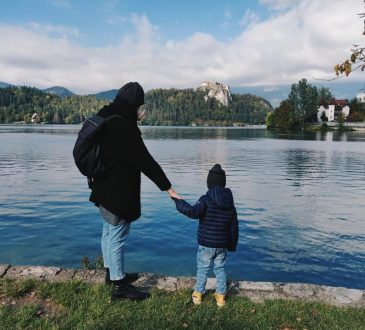
<instances>
[{"instance_id":1,"label":"adult's black hooded coat with arm reaching toward the child","mask_svg":"<svg viewBox=\"0 0 365 330\"><path fill-rule=\"evenodd\" d=\"M95 181L90 201L131 222L141 215L141 172L162 191L171 183L142 140L136 108L112 103L99 111L104 117L112 114L121 117L105 123L101 143L103 161L110 170Z\"/></svg>"}]
</instances>

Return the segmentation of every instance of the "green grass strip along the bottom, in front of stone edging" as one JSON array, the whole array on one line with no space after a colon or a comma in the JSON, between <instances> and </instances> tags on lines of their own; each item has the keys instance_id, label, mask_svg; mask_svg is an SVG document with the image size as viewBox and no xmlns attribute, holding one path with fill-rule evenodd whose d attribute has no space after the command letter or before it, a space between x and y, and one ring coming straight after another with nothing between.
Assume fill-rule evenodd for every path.
<instances>
[{"instance_id":1,"label":"green grass strip along the bottom, in front of stone edging","mask_svg":"<svg viewBox=\"0 0 365 330\"><path fill-rule=\"evenodd\" d=\"M365 329L365 309L238 296L200 306L190 290L154 289L143 302L110 302L110 287L0 279L0 329Z\"/></svg>"}]
</instances>

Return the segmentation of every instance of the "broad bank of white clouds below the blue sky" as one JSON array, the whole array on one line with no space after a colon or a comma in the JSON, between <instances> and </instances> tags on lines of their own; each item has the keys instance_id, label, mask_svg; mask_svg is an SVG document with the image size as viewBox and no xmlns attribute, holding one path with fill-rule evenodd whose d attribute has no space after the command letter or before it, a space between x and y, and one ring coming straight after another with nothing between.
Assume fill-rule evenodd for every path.
<instances>
[{"instance_id":1,"label":"broad bank of white clouds below the blue sky","mask_svg":"<svg viewBox=\"0 0 365 330\"><path fill-rule=\"evenodd\" d=\"M279 3L288 2L270 1L276 7ZM128 37L93 48L74 41L76 29L3 24L0 81L90 93L131 80L149 89L196 87L205 80L245 86L330 78L333 65L363 41L363 22L357 17L362 5L358 0L303 0L260 22L248 12L249 28L226 42L206 33L165 41L146 15L130 18L135 30ZM363 79L363 74L347 79Z\"/></svg>"}]
</instances>

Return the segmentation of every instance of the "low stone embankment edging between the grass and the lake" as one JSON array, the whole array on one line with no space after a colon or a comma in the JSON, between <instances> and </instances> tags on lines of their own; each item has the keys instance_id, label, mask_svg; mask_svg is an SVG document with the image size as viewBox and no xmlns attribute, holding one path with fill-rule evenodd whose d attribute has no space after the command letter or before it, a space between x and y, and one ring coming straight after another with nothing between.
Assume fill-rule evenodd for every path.
<instances>
[{"instance_id":1,"label":"low stone embankment edging between the grass and the lake","mask_svg":"<svg viewBox=\"0 0 365 330\"><path fill-rule=\"evenodd\" d=\"M34 278L49 282L80 280L89 283L104 283L105 272L103 270L0 264L0 278L14 280ZM140 273L140 278L134 282L134 285L146 290L157 287L168 291L176 291L183 288L192 288L194 283L195 278L193 277ZM209 278L207 290L213 290L214 287L215 279ZM248 297L257 302L265 299L302 299L336 306L365 308L364 290L314 284L230 281L228 294Z\"/></svg>"}]
</instances>

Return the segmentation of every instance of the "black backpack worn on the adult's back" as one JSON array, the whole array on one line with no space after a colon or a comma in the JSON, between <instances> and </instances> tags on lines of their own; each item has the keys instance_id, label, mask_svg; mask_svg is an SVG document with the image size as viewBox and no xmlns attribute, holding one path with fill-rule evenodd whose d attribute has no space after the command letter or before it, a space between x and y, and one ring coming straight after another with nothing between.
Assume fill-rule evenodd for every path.
<instances>
[{"instance_id":1,"label":"black backpack worn on the adult's back","mask_svg":"<svg viewBox=\"0 0 365 330\"><path fill-rule=\"evenodd\" d=\"M104 118L94 115L87 118L77 136L73 157L79 171L87 177L89 188L92 188L95 179L107 174L108 164L103 163L100 149L102 129L106 121L116 117L121 116L111 115Z\"/></svg>"}]
</instances>

